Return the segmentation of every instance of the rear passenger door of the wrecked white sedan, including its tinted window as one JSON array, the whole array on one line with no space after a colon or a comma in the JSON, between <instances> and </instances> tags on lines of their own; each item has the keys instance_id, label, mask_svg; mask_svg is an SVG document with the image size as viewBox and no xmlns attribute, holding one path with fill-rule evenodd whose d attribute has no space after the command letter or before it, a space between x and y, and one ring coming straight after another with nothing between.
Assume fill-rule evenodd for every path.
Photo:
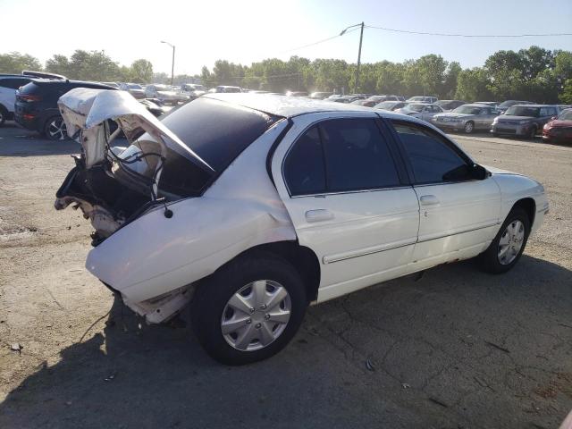
<instances>
[{"instance_id":1,"label":"rear passenger door of the wrecked white sedan, including its tinted window","mask_svg":"<svg viewBox=\"0 0 572 429\"><path fill-rule=\"evenodd\" d=\"M272 174L299 243L320 261L318 301L404 273L419 206L376 115L305 114L293 122Z\"/></svg>"}]
</instances>

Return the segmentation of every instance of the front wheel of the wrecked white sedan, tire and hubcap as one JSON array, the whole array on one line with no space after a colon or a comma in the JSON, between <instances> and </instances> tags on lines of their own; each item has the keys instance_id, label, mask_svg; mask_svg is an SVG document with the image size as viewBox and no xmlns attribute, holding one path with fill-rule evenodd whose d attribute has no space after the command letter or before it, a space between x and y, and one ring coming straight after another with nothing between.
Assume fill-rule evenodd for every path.
<instances>
[{"instance_id":1,"label":"front wheel of the wrecked white sedan, tire and hubcap","mask_svg":"<svg viewBox=\"0 0 572 429\"><path fill-rule=\"evenodd\" d=\"M481 266L488 273L506 273L517 265L526 248L530 220L526 211L513 208L491 245L481 254Z\"/></svg>"}]
</instances>

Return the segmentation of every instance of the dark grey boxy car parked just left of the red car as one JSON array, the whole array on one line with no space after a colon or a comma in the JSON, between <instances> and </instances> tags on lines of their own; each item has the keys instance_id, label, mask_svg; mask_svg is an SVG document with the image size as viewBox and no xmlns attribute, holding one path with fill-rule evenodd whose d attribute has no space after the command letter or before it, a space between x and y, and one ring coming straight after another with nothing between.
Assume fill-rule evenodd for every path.
<instances>
[{"instance_id":1,"label":"dark grey boxy car parked just left of the red car","mask_svg":"<svg viewBox=\"0 0 572 429\"><path fill-rule=\"evenodd\" d=\"M534 139L552 116L558 116L558 105L513 105L494 118L492 135L525 136Z\"/></svg>"}]
</instances>

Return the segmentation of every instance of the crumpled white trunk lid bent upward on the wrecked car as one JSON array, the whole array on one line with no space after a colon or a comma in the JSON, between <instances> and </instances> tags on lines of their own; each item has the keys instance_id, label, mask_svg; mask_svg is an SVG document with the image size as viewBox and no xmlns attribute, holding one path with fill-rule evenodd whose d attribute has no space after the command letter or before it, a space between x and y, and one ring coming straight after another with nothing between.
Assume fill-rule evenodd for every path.
<instances>
[{"instance_id":1,"label":"crumpled white trunk lid bent upward on the wrecked car","mask_svg":"<svg viewBox=\"0 0 572 429\"><path fill-rule=\"evenodd\" d=\"M149 133L166 152L163 137L177 146L177 151L194 158L198 164L213 171L210 165L195 154L171 130L156 119L144 105L125 91L109 89L74 88L58 100L58 106L68 130L83 147L86 168L105 159L107 137L104 122L119 122L130 143L142 133ZM81 131L81 132L78 132Z\"/></svg>"}]
</instances>

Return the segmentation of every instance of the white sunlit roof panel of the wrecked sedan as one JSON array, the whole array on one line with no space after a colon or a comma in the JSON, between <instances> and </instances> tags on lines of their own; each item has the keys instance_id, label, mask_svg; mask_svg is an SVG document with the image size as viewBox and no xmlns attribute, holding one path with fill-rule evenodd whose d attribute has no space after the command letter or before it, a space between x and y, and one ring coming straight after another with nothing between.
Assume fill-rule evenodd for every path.
<instances>
[{"instance_id":1,"label":"white sunlit roof panel of the wrecked sedan","mask_svg":"<svg viewBox=\"0 0 572 429\"><path fill-rule=\"evenodd\" d=\"M299 116L300 114L315 114L320 112L373 112L369 107L363 107L361 105L332 103L331 101L314 100L311 98L252 94L248 92L234 94L210 93L202 97L248 107L259 112L285 118Z\"/></svg>"}]
</instances>

